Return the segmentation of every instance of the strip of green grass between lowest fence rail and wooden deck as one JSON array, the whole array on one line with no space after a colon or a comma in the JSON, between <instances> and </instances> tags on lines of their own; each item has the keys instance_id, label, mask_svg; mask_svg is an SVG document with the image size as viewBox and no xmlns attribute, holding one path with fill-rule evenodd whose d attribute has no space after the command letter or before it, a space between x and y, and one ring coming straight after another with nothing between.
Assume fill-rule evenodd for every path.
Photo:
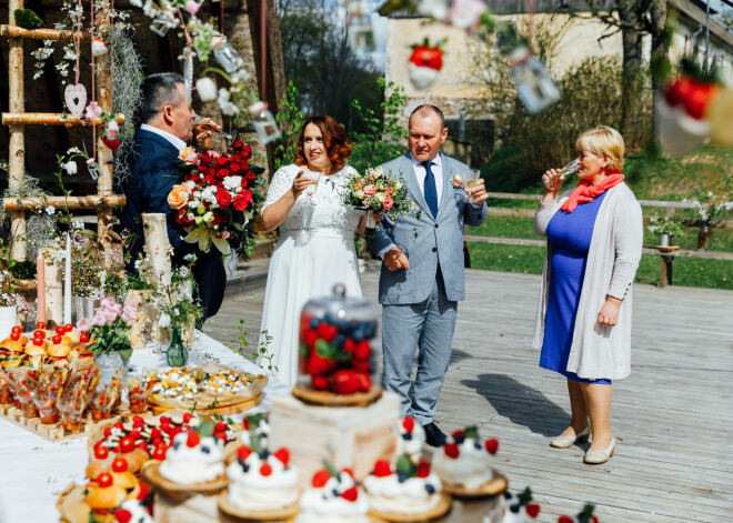
<instances>
[{"instance_id":1,"label":"strip of green grass between lowest fence rail and wooden deck","mask_svg":"<svg viewBox=\"0 0 733 523\"><path fill-rule=\"evenodd\" d=\"M469 243L471 266L491 271L541 274L544 248ZM657 283L660 257L644 254L636 272L636 282ZM733 290L733 262L677 258L674 261L673 283L682 286L704 286Z\"/></svg>"}]
</instances>

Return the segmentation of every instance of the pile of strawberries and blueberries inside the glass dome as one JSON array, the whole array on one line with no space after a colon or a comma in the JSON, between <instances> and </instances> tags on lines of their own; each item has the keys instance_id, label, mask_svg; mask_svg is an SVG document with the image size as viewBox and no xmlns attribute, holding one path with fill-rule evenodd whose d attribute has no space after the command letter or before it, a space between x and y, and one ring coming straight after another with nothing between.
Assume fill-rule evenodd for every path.
<instances>
[{"instance_id":1,"label":"pile of strawberries and blueberries inside the glass dome","mask_svg":"<svg viewBox=\"0 0 733 523\"><path fill-rule=\"evenodd\" d=\"M311 378L319 391L337 394L366 392L374 321L338 321L303 313L300 320L300 373Z\"/></svg>"}]
</instances>

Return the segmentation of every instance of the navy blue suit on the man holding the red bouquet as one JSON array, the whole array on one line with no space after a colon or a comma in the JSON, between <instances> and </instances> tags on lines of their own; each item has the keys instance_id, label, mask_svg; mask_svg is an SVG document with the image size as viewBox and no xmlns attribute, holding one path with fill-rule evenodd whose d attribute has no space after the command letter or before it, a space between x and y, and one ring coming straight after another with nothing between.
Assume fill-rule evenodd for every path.
<instances>
[{"instance_id":1,"label":"navy blue suit on the man holding the red bouquet","mask_svg":"<svg viewBox=\"0 0 733 523\"><path fill-rule=\"evenodd\" d=\"M197 254L199 261L193 268L193 274L199 285L198 295L205 309L204 318L210 318L221 306L227 273L217 249L212 248L209 253L203 253L195 244L183 241L185 231L175 222L174 213L168 204L168 193L183 178L183 173L179 170L181 160L178 154L178 149L163 137L143 129L135 130L130 177L122 187L128 202L120 217L122 230L128 230L137 237L131 248L132 257L128 271L134 271L134 261L138 254L143 252L145 239L141 214L143 212L167 214L168 240L174 252L173 265L185 263L183 260L185 254Z\"/></svg>"}]
</instances>

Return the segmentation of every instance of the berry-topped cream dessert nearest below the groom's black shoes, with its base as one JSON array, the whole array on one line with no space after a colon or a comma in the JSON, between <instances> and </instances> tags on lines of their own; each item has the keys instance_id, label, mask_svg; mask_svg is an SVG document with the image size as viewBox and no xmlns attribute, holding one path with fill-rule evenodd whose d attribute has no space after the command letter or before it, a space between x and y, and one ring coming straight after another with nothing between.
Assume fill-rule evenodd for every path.
<instances>
[{"instance_id":1,"label":"berry-topped cream dessert nearest below the groom's black shoes, with its base","mask_svg":"<svg viewBox=\"0 0 733 523\"><path fill-rule=\"evenodd\" d=\"M461 495L493 495L506 487L503 475L495 473L491 456L499 441L482 440L479 429L469 426L455 431L433 456L433 467L445 490Z\"/></svg>"}]
</instances>

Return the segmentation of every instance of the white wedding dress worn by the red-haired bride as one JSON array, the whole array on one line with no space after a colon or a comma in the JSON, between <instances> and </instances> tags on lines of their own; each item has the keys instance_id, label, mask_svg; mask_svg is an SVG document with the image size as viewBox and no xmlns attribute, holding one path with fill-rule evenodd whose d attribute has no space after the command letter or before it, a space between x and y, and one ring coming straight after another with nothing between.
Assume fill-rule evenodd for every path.
<instances>
[{"instance_id":1,"label":"white wedding dress worn by the red-haired bride","mask_svg":"<svg viewBox=\"0 0 733 523\"><path fill-rule=\"evenodd\" d=\"M263 211L291 190L302 169L288 165L274 173ZM298 331L305 302L331 295L337 283L347 286L348 295L361 296L354 234L363 211L343 204L341 195L353 172L347 165L321 177L315 204L303 192L280 225L264 292L260 346L265 334L272 336L269 353L274 355L274 375L289 386L298 380ZM269 362L260 358L258 364L267 369Z\"/></svg>"}]
</instances>

